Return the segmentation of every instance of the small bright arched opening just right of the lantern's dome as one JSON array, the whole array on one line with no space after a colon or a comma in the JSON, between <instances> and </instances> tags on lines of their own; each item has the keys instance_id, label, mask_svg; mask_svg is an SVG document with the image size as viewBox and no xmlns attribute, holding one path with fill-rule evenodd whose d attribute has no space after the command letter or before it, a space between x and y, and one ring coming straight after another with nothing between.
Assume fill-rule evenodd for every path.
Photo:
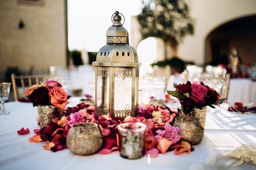
<instances>
[{"instance_id":1,"label":"small bright arched opening just right of the lantern's dome","mask_svg":"<svg viewBox=\"0 0 256 170\"><path fill-rule=\"evenodd\" d=\"M149 65L157 58L157 40L149 37L142 40L137 47L138 60L142 63L140 67L141 75L150 68Z\"/></svg>"}]
</instances>

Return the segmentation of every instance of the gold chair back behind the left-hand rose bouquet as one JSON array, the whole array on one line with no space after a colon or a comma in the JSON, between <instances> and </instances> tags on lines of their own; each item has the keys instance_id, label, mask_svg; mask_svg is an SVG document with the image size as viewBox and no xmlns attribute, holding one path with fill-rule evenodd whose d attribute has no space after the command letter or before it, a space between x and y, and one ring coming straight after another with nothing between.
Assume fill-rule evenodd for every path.
<instances>
[{"instance_id":1,"label":"gold chair back behind the left-hand rose bouquet","mask_svg":"<svg viewBox=\"0 0 256 170\"><path fill-rule=\"evenodd\" d=\"M41 82L45 82L48 79L56 80L58 76L51 75L33 75L33 76L15 76L15 74L11 75L13 94L15 101L18 101L19 91L18 91L18 83L21 85L22 92L25 96L26 87L31 87L32 85L39 84Z\"/></svg>"}]
</instances>

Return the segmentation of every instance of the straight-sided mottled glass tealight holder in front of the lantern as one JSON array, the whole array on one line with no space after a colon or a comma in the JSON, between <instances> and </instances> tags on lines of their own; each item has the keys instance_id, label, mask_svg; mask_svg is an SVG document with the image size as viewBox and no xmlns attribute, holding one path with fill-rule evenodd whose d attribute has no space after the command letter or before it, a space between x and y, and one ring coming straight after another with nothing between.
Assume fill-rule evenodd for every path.
<instances>
[{"instance_id":1,"label":"straight-sided mottled glass tealight holder in front of the lantern","mask_svg":"<svg viewBox=\"0 0 256 170\"><path fill-rule=\"evenodd\" d=\"M139 159L145 154L145 129L143 123L122 123L118 125L120 156Z\"/></svg>"}]
</instances>

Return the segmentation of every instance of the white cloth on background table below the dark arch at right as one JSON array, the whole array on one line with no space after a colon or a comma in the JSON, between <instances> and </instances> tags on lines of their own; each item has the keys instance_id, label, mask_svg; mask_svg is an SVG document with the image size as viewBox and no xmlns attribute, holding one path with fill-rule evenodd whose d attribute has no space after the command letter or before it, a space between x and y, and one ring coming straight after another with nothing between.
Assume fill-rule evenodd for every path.
<instances>
[{"instance_id":1,"label":"white cloth on background table below the dark arch at right","mask_svg":"<svg viewBox=\"0 0 256 170\"><path fill-rule=\"evenodd\" d=\"M256 81L251 79L231 79L227 96L229 103L235 101L256 106Z\"/></svg>"}]
</instances>

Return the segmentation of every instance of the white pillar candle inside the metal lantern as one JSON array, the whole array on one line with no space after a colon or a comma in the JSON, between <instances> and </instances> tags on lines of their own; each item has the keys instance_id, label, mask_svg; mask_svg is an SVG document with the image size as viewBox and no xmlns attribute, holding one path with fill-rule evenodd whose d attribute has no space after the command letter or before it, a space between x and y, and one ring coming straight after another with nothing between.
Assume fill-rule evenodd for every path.
<instances>
[{"instance_id":1,"label":"white pillar candle inside the metal lantern","mask_svg":"<svg viewBox=\"0 0 256 170\"><path fill-rule=\"evenodd\" d=\"M114 98L114 109L124 110L125 109L125 80L115 80L115 98Z\"/></svg>"}]
</instances>

